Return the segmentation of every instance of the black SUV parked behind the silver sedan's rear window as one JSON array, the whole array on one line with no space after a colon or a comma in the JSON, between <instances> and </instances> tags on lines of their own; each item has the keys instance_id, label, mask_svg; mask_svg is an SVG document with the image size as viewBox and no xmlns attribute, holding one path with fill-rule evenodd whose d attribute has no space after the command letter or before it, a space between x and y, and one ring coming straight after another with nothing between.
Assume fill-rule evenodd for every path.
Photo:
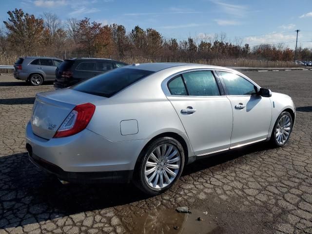
<instances>
[{"instance_id":1,"label":"black SUV parked behind the silver sedan's rear window","mask_svg":"<svg viewBox=\"0 0 312 234\"><path fill-rule=\"evenodd\" d=\"M55 70L54 87L62 89L81 80L95 77L109 70L128 65L112 59L78 58L65 59Z\"/></svg>"}]
</instances>

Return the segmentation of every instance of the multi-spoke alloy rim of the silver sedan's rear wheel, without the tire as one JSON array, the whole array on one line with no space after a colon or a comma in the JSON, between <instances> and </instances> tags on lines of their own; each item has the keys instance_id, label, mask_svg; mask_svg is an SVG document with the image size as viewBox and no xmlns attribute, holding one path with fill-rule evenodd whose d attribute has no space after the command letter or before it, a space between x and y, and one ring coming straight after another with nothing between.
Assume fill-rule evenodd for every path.
<instances>
[{"instance_id":1,"label":"multi-spoke alloy rim of the silver sedan's rear wheel, without the tire","mask_svg":"<svg viewBox=\"0 0 312 234\"><path fill-rule=\"evenodd\" d=\"M181 156L175 145L157 146L145 162L144 177L152 189L163 189L174 181L179 173Z\"/></svg>"}]
</instances>

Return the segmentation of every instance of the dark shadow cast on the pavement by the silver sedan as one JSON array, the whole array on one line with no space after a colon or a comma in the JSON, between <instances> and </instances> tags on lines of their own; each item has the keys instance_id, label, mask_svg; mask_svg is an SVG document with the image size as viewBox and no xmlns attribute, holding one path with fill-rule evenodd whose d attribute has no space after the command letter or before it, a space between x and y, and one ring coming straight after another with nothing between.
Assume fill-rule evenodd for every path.
<instances>
[{"instance_id":1,"label":"dark shadow cast on the pavement by the silver sedan","mask_svg":"<svg viewBox=\"0 0 312 234\"><path fill-rule=\"evenodd\" d=\"M177 186L183 184L183 176L267 149L267 144L257 144L200 159L185 167ZM28 160L27 153L0 157L0 229L125 205L148 198L150 196L140 192L133 184L62 185L55 176L34 166ZM8 221L14 218L19 221Z\"/></svg>"}]
</instances>

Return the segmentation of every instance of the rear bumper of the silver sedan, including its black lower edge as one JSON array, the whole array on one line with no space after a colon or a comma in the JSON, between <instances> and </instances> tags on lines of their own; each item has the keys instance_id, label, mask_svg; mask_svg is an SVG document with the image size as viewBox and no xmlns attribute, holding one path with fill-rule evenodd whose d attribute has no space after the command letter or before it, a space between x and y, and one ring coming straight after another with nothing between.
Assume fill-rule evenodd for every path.
<instances>
[{"instance_id":1,"label":"rear bumper of the silver sedan, including its black lower edge","mask_svg":"<svg viewBox=\"0 0 312 234\"><path fill-rule=\"evenodd\" d=\"M63 180L85 182L103 178L107 181L117 176L117 180L129 181L145 143L146 140L112 142L88 129L70 137L48 140L36 136L30 122L26 127L30 160Z\"/></svg>"}]
</instances>

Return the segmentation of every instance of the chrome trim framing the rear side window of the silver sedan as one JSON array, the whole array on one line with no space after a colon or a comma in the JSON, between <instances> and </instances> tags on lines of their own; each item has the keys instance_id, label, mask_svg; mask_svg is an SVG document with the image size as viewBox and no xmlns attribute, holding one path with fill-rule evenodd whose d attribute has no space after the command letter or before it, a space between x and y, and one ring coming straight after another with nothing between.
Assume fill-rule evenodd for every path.
<instances>
[{"instance_id":1,"label":"chrome trim framing the rear side window of the silver sedan","mask_svg":"<svg viewBox=\"0 0 312 234\"><path fill-rule=\"evenodd\" d=\"M212 68L195 68L195 69L189 69L189 70L184 70L184 71L180 71L180 72L177 72L167 78L165 78L162 82L161 82L161 89L162 89L162 92L164 92L164 94L167 96L167 97L188 97L188 98L212 98L212 97L225 97L226 95L222 95L221 92L220 92L220 87L219 87L219 84L217 82L217 80L215 80L215 83L219 89L219 94L218 96L191 96L191 95L172 95L170 93L170 90L168 88L168 82L178 76L178 75L183 75L183 73L187 73L187 72L197 72L197 71L211 71L214 78L217 79L218 77L215 76L214 74L214 71L215 69L212 69Z\"/></svg>"}]
</instances>

